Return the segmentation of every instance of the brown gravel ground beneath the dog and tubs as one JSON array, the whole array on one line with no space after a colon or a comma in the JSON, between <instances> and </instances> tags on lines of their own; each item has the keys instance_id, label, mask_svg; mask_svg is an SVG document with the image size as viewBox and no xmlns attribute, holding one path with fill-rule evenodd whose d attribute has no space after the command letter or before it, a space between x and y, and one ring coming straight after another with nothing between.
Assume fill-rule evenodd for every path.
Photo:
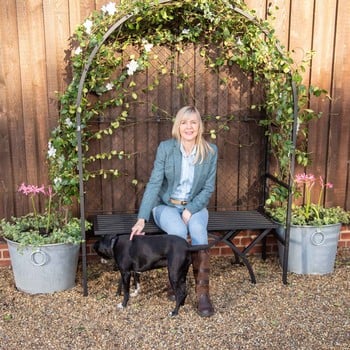
<instances>
[{"instance_id":1,"label":"brown gravel ground beneath the dog and tubs","mask_svg":"<svg viewBox=\"0 0 350 350\"><path fill-rule=\"evenodd\" d=\"M192 272L186 304L171 318L164 269L144 273L142 293L119 310L111 265L89 264L87 297L81 281L69 291L28 295L15 290L10 268L0 268L0 349L350 348L350 250L338 253L334 273L289 274L287 286L276 257L250 260L256 285L245 267L212 257L211 318L194 310Z\"/></svg>"}]
</instances>

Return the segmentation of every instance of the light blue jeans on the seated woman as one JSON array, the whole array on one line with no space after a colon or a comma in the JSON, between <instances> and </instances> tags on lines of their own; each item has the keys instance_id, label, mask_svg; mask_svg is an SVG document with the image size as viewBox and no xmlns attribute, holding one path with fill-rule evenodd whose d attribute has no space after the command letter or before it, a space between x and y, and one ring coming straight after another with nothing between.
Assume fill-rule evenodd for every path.
<instances>
[{"instance_id":1,"label":"light blue jeans on the seated woman","mask_svg":"<svg viewBox=\"0 0 350 350\"><path fill-rule=\"evenodd\" d=\"M189 234L192 245L208 244L208 210L206 208L192 214L188 225L182 220L182 208L158 205L153 208L153 218L158 227L167 234L187 239Z\"/></svg>"}]
</instances>

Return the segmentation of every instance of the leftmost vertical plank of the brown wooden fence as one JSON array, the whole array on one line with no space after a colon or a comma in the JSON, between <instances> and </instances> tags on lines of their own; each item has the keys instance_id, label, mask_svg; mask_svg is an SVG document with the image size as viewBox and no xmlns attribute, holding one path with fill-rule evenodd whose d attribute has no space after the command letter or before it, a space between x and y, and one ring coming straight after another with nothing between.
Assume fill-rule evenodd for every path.
<instances>
[{"instance_id":1,"label":"leftmost vertical plank of the brown wooden fence","mask_svg":"<svg viewBox=\"0 0 350 350\"><path fill-rule=\"evenodd\" d=\"M28 203L16 196L18 184L26 180L16 4L7 1L0 16L0 218L3 218L22 214Z\"/></svg>"}]
</instances>

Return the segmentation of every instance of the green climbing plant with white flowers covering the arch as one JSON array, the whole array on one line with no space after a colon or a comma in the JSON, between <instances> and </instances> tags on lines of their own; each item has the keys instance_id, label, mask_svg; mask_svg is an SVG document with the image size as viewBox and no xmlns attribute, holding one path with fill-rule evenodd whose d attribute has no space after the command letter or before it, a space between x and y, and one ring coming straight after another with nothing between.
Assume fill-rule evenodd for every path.
<instances>
[{"instance_id":1,"label":"green climbing plant with white flowers covering the arch","mask_svg":"<svg viewBox=\"0 0 350 350\"><path fill-rule=\"evenodd\" d=\"M106 33L116 23L108 37ZM101 44L102 43L102 44ZM293 127L293 93L291 81L298 89L298 122L302 125L318 117L308 108L311 94L324 91L302 84L301 72L309 57L296 65L290 54L280 45L268 21L255 17L243 1L229 0L182 0L182 1L122 1L113 2L92 13L75 31L72 38L72 81L60 96L58 126L49 140L48 161L53 186L62 201L70 204L78 197L78 149L76 113L81 114L82 149L88 154L89 143L113 134L128 120L130 106L144 103L138 95L135 76L144 73L151 59L156 58L156 48L170 50L168 60L174 61L186 48L194 46L207 70L219 72L225 67L238 66L252 74L254 83L264 89L262 103L252 109L263 111L261 126L269 136L270 149L277 161L276 175L285 180L289 174L290 139ZM89 62L93 50L96 52ZM87 70L88 66L88 70ZM86 74L82 98L76 105L82 74ZM183 89L188 74L169 71L167 65L159 64L146 90L152 91L161 79L176 75L177 89ZM225 81L221 82L225 85ZM152 104L152 111L159 106ZM88 128L89 121L103 118L112 110L113 120L99 130ZM163 111L171 118L168 111ZM229 127L230 117L215 116L217 129L210 130L212 138ZM83 159L84 180L97 175L119 176L119 169L88 170L89 164L100 159L131 157L125 150L86 155ZM296 150L297 161L306 165L309 161L305 149Z\"/></svg>"}]
</instances>

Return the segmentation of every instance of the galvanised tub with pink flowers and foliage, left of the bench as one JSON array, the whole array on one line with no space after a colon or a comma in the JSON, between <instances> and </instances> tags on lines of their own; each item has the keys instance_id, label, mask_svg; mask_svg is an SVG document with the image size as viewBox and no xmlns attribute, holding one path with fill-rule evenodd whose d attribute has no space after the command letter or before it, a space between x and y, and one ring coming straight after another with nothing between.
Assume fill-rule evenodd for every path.
<instances>
[{"instance_id":1,"label":"galvanised tub with pink flowers and foliage, left of the bench","mask_svg":"<svg viewBox=\"0 0 350 350\"><path fill-rule=\"evenodd\" d=\"M51 186L23 183L18 191L30 197L33 211L0 222L17 289L38 294L72 288L81 243L80 220L56 205ZM42 214L36 208L39 195L48 199Z\"/></svg>"}]
</instances>

